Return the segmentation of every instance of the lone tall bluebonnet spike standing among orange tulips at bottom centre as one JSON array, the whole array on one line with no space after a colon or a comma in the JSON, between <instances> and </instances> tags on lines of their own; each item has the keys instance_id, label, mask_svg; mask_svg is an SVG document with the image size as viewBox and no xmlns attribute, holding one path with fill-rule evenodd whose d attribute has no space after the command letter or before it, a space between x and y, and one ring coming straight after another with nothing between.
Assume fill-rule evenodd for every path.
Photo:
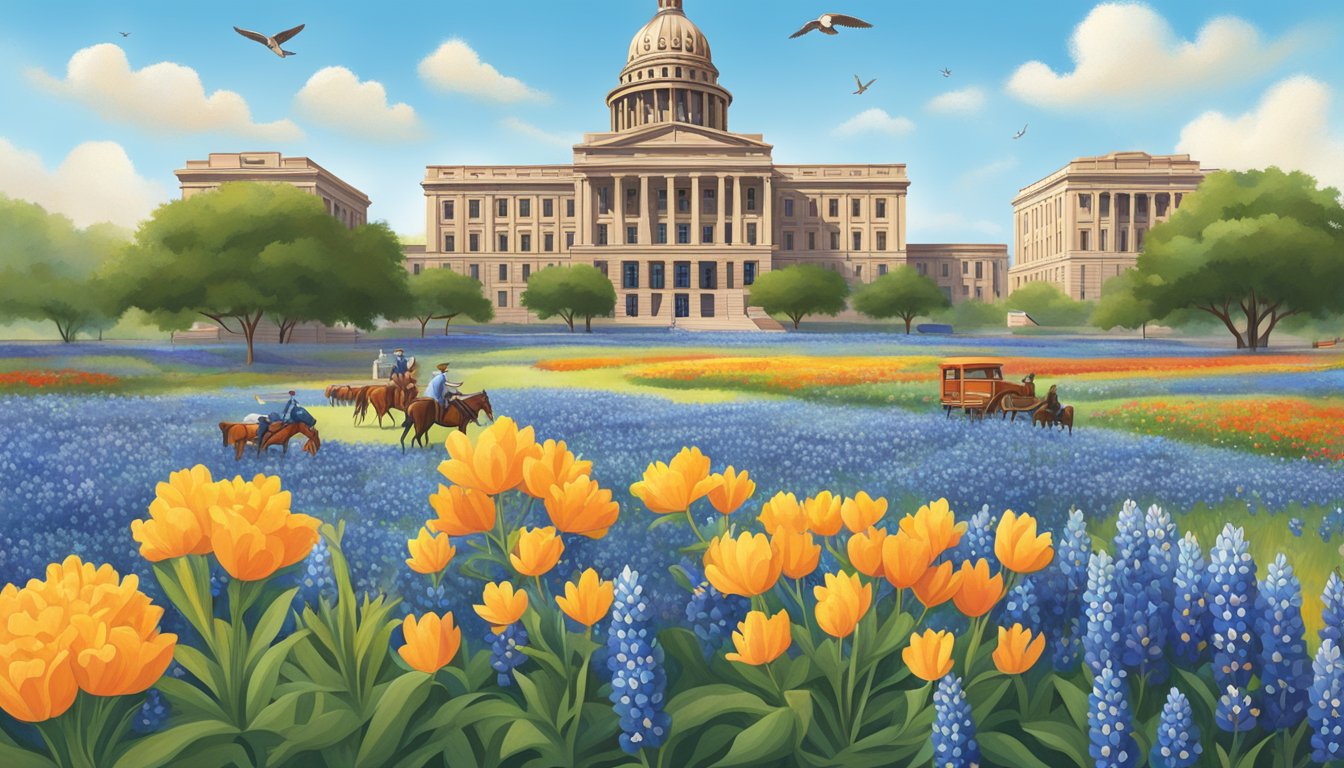
<instances>
[{"instance_id":1,"label":"lone tall bluebonnet spike standing among orange tulips at bottom centre","mask_svg":"<svg viewBox=\"0 0 1344 768\"><path fill-rule=\"evenodd\" d=\"M671 718L663 712L667 689L663 647L649 621L640 573L630 566L625 566L616 580L606 647L610 698L621 718L621 749L630 755L644 748L657 749L671 726Z\"/></svg>"}]
</instances>

